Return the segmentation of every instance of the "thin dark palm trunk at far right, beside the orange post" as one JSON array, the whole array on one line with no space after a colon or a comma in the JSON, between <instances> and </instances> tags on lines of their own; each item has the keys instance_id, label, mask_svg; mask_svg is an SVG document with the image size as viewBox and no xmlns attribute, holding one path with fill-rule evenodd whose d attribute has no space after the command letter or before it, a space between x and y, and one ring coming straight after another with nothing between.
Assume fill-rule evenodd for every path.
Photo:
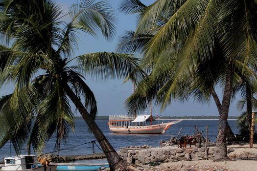
<instances>
[{"instance_id":1,"label":"thin dark palm trunk at far right, beside the orange post","mask_svg":"<svg viewBox=\"0 0 257 171\"><path fill-rule=\"evenodd\" d=\"M247 106L247 124L249 129L249 143L251 141L251 125L252 125L252 90L251 86L246 82L246 106Z\"/></svg>"}]
</instances>

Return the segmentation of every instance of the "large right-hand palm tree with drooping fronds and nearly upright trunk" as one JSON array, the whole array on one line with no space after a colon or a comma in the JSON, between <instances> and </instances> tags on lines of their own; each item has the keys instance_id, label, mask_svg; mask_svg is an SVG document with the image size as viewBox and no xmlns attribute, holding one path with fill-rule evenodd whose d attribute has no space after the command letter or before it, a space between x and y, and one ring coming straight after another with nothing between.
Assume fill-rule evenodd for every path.
<instances>
[{"instance_id":1,"label":"large right-hand palm tree with drooping fronds and nearly upright trunk","mask_svg":"<svg viewBox=\"0 0 257 171\"><path fill-rule=\"evenodd\" d=\"M164 109L173 99L195 95L208 101L212 96L220 114L215 160L227 158L230 102L241 76L256 79L254 0L157 0L147 7L139 0L124 0L124 4L128 13L140 15L132 41L123 38L119 49L140 50L140 66L149 73L128 99L129 111L140 110L151 98ZM153 36L146 45L133 43L149 33ZM223 87L222 102L217 85Z\"/></svg>"}]
</instances>

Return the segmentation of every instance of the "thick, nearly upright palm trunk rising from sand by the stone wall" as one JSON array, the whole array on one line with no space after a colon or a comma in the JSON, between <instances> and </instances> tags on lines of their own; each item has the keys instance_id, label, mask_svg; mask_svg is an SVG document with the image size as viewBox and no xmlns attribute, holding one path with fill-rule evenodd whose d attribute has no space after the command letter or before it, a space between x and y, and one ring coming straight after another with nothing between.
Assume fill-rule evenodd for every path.
<instances>
[{"instance_id":1,"label":"thick, nearly upright palm trunk rising from sand by the stone wall","mask_svg":"<svg viewBox=\"0 0 257 171\"><path fill-rule=\"evenodd\" d=\"M226 84L222 99L221 105L221 114L219 118L219 128L218 128L218 136L216 141L216 149L215 149L215 161L219 161L227 158L227 143L226 143L226 128L227 128L227 120L229 114L229 107L231 101L232 94L232 80L233 80L234 71L232 67L230 67L226 74Z\"/></svg>"}]
</instances>

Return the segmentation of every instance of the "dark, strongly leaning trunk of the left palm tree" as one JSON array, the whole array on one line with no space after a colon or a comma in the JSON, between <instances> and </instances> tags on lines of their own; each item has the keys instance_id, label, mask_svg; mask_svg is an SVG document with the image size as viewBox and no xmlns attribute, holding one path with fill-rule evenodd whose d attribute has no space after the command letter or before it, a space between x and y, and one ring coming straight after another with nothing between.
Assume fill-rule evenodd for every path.
<instances>
[{"instance_id":1,"label":"dark, strongly leaning trunk of the left palm tree","mask_svg":"<svg viewBox=\"0 0 257 171\"><path fill-rule=\"evenodd\" d=\"M108 160L111 170L116 170L117 167L123 163L122 158L117 154L116 150L112 147L109 141L106 139L101 129L96 125L93 118L90 116L89 112L86 110L84 105L81 103L80 99L75 95L75 93L70 89L69 85L64 85L65 91L67 92L70 100L76 106L83 119L86 121L88 127L93 132L94 137L97 139L101 148L103 149L106 158Z\"/></svg>"}]
</instances>

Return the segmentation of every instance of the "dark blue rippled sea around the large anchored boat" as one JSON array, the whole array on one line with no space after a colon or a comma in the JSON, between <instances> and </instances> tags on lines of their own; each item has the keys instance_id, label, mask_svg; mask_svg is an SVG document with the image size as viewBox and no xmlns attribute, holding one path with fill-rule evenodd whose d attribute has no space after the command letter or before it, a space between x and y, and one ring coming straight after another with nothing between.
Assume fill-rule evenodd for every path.
<instances>
[{"instance_id":1,"label":"dark blue rippled sea around the large anchored boat","mask_svg":"<svg viewBox=\"0 0 257 171\"><path fill-rule=\"evenodd\" d=\"M172 125L164 134L114 134L109 130L107 125L107 120L96 120L97 125L103 131L107 139L110 141L112 146L119 150L120 147L128 146L141 146L147 144L152 147L158 147L161 140L168 140L178 134L180 128L182 132L180 135L192 135L195 133L194 125L196 125L199 131L203 130L203 135L206 133L206 126L209 126L209 137L210 141L214 142L217 136L218 120L184 120L178 124ZM167 121L157 121L155 123L162 123ZM236 120L228 121L232 130L235 134L238 133L238 128L236 127ZM81 145L83 143L91 142L95 140L93 134L88 132L88 127L84 120L75 121L75 132L70 132L70 136L66 145L62 145L61 149L70 148L68 150L61 150L59 155L78 155L78 154L92 154L93 148L92 143ZM47 147L44 152L53 151L55 145L55 138L52 137L47 143ZM81 146L79 146L81 145ZM77 147L75 147L77 146ZM73 147L73 148L72 148ZM94 146L95 152L101 152L96 146ZM0 149L0 160L4 156L9 156L10 146L7 143L2 149ZM24 150L24 154L26 151ZM57 152L55 152L57 154ZM15 151L11 147L11 155L14 155Z\"/></svg>"}]
</instances>

